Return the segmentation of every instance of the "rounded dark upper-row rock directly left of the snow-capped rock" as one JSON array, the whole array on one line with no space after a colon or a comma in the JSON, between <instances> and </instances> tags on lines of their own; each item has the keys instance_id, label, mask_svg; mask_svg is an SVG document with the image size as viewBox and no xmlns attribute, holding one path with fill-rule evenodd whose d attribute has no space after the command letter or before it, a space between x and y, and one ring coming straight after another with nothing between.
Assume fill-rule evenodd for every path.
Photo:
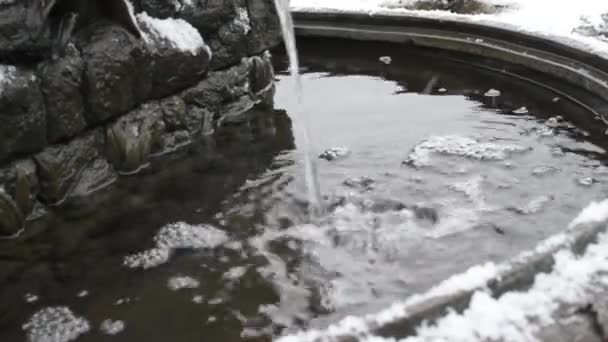
<instances>
[{"instance_id":1,"label":"rounded dark upper-row rock directly left of the snow-capped rock","mask_svg":"<svg viewBox=\"0 0 608 342\"><path fill-rule=\"evenodd\" d=\"M141 82L141 42L118 25L98 27L83 49L87 120L98 124L123 114L145 97Z\"/></svg>"}]
</instances>

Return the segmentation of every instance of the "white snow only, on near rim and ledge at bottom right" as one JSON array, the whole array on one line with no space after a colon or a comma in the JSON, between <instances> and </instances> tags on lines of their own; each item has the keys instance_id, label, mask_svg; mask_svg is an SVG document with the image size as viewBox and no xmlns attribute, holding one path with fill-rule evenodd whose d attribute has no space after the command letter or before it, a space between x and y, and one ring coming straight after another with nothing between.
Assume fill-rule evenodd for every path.
<instances>
[{"instance_id":1,"label":"white snow only, on near rim and ledge at bottom right","mask_svg":"<svg viewBox=\"0 0 608 342\"><path fill-rule=\"evenodd\" d=\"M608 199L592 202L570 223L569 229L581 224L608 220ZM422 341L483 341L484 338L505 338L508 341L535 341L532 333L552 323L551 314L559 303L575 304L592 295L595 276L608 272L608 233L600 235L598 242L590 245L586 253L577 257L568 250L555 253L555 266L549 274L537 275L527 292L509 292L494 299L485 287L491 279L508 272L512 264L524 262L533 255L545 254L563 246L571 237L567 233L556 234L540 242L534 250L522 252L506 263L488 262L469 268L431 288L423 294L396 302L388 309L363 317L350 316L325 330L309 330L284 336L278 342L334 341L341 335L358 335L368 342L395 341L370 336L370 328L395 322L408 315L407 308L429 299L476 290L469 308L462 314L450 312L439 319L437 325L422 325L418 336L404 342ZM608 283L605 284L608 286ZM491 309L488 309L491 308ZM480 322L483 322L480 324ZM533 322L537 322L536 325ZM525 329L529 329L526 331ZM526 334L528 333L528 334ZM481 337L481 338L480 338Z\"/></svg>"}]
</instances>

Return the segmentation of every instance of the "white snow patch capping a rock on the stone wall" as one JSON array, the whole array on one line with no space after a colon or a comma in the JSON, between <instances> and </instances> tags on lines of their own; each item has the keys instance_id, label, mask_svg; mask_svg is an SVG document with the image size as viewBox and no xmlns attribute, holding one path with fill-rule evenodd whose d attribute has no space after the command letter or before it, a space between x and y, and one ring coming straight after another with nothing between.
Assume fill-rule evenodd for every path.
<instances>
[{"instance_id":1,"label":"white snow patch capping a rock on the stone wall","mask_svg":"<svg viewBox=\"0 0 608 342\"><path fill-rule=\"evenodd\" d=\"M158 19L142 12L137 15L137 22L144 40L150 45L168 45L192 55L208 49L201 34L183 19Z\"/></svg>"}]
</instances>

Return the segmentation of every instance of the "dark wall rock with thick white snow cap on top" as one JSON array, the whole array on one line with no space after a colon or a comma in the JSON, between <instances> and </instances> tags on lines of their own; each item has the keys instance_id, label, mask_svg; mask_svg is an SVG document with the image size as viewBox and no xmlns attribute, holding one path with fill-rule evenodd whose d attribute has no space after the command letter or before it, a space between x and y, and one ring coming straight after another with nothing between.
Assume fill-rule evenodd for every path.
<instances>
[{"instance_id":1,"label":"dark wall rock with thick white snow cap on top","mask_svg":"<svg viewBox=\"0 0 608 342\"><path fill-rule=\"evenodd\" d=\"M143 66L142 78L149 79L149 91L143 94L145 99L160 99L175 94L187 87L196 84L203 78L209 69L211 62L211 51L203 43L199 36L200 45L193 47L192 50L183 50L183 47L176 46L175 42L163 36L163 32L155 27L158 19L151 18L146 14L138 16L139 26L145 37L146 44L143 51L142 60L139 61ZM174 21L174 19L166 19ZM174 21L175 23L175 21ZM191 26L183 22L180 27L174 29L187 30L193 32L183 32L182 34L198 35ZM184 25L188 27L183 27ZM215 59L215 58L214 58Z\"/></svg>"}]
</instances>

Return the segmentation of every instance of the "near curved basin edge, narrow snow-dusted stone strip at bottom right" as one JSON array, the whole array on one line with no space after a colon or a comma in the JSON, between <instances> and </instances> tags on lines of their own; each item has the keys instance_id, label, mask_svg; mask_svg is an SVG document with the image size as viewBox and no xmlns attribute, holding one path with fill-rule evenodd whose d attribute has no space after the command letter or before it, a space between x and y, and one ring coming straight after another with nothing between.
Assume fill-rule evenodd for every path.
<instances>
[{"instance_id":1,"label":"near curved basin edge, narrow snow-dusted stone strip at bottom right","mask_svg":"<svg viewBox=\"0 0 608 342\"><path fill-rule=\"evenodd\" d=\"M279 342L356 342L367 341L369 337L384 337L393 341L415 336L416 329L422 324L432 325L450 312L463 312L478 291L489 293L494 298L509 291L525 291L534 283L536 276L553 271L555 257L559 252L569 250L580 256L607 231L608 219L605 217L598 221L573 225L564 233L544 240L534 250L523 252L499 265L487 263L474 266L446 279L425 293L413 295L379 313L360 318L349 317L327 330L286 336L279 339ZM594 295L599 298L602 296L601 293ZM560 310L567 309L560 307ZM571 316L568 318L572 318L572 322L558 320L540 333L549 336L570 324L584 326L589 323L589 317L579 312L572 312ZM608 328L608 317L602 319L604 328Z\"/></svg>"}]
</instances>

